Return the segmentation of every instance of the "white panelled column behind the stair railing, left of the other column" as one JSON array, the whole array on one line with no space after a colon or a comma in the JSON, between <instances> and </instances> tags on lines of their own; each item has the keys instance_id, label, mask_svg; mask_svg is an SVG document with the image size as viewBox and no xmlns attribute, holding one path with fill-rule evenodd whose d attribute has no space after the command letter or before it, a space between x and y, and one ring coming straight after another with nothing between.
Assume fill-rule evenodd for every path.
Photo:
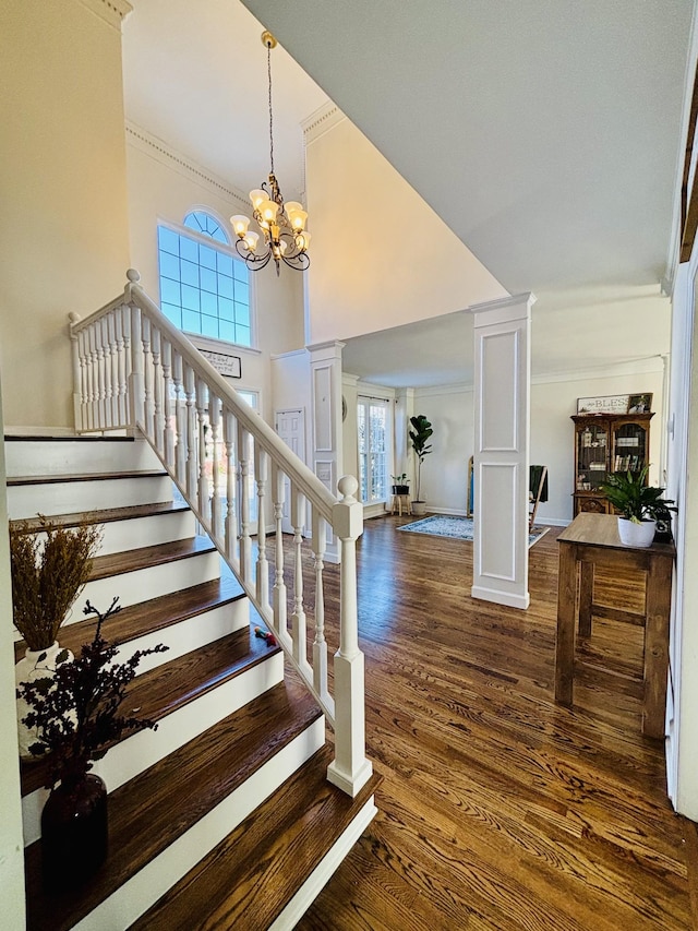
<instances>
[{"instance_id":1,"label":"white panelled column behind the stair railing, left of the other column","mask_svg":"<svg viewBox=\"0 0 698 931\"><path fill-rule=\"evenodd\" d=\"M341 350L344 343L309 346L312 409L312 468L334 496L342 467ZM306 528L306 532L310 527ZM339 544L328 528L326 562L339 562Z\"/></svg>"}]
</instances>

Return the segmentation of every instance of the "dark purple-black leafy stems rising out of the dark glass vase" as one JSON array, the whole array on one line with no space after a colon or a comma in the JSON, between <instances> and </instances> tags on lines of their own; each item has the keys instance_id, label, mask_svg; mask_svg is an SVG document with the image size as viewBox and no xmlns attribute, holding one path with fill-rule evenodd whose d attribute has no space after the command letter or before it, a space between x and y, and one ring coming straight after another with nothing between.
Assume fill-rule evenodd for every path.
<instances>
[{"instance_id":1,"label":"dark purple-black leafy stems rising out of the dark glass vase","mask_svg":"<svg viewBox=\"0 0 698 931\"><path fill-rule=\"evenodd\" d=\"M153 720L118 712L141 660L169 647L159 643L149 649L136 649L125 663L113 663L119 644L105 640L101 628L121 610L118 600L115 598L104 614L87 601L84 613L97 616L92 643L84 644L73 661L62 657L52 678L35 679L17 688L17 696L31 708L23 723L39 735L38 741L29 745L29 753L51 754L46 784L49 789L58 781L84 776L123 731L157 728Z\"/></svg>"}]
</instances>

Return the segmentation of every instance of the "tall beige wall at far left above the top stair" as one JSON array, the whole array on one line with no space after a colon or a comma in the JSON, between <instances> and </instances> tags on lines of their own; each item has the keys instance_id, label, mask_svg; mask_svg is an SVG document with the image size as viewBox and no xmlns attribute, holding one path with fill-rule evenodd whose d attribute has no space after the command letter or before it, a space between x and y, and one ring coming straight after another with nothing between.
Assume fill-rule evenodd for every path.
<instances>
[{"instance_id":1,"label":"tall beige wall at far left above the top stair","mask_svg":"<svg viewBox=\"0 0 698 931\"><path fill-rule=\"evenodd\" d=\"M121 32L95 5L113 22L80 0L2 2L5 428L74 426L68 313L92 313L125 283Z\"/></svg>"}]
</instances>

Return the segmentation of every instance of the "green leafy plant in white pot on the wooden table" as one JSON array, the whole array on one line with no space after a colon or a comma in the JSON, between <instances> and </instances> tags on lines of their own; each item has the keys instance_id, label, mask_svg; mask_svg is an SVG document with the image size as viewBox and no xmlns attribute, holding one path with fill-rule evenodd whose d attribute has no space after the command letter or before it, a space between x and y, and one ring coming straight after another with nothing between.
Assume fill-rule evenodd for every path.
<instances>
[{"instance_id":1,"label":"green leafy plant in white pot on the wooden table","mask_svg":"<svg viewBox=\"0 0 698 931\"><path fill-rule=\"evenodd\" d=\"M645 465L637 473L613 473L601 486L601 491L619 512L618 536L626 546L651 546L657 514L664 513L672 503L662 498L664 488L646 485L648 472L649 465Z\"/></svg>"}]
</instances>

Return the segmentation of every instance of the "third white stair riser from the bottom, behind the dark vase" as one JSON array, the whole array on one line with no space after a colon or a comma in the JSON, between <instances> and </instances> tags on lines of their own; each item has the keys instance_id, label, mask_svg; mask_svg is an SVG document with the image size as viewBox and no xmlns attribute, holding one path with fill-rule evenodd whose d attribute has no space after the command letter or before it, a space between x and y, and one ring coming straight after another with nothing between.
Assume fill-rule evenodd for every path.
<instances>
[{"instance_id":1,"label":"third white stair riser from the bottom, behind the dark vase","mask_svg":"<svg viewBox=\"0 0 698 931\"><path fill-rule=\"evenodd\" d=\"M159 723L157 730L143 730L122 740L112 747L103 760L95 763L92 772L101 776L108 791L112 792L207 728L277 685L282 679L284 655L276 653L265 663L258 663L234 679L167 715ZM46 797L45 789L37 789L22 800L25 847L41 836L40 815Z\"/></svg>"}]
</instances>

